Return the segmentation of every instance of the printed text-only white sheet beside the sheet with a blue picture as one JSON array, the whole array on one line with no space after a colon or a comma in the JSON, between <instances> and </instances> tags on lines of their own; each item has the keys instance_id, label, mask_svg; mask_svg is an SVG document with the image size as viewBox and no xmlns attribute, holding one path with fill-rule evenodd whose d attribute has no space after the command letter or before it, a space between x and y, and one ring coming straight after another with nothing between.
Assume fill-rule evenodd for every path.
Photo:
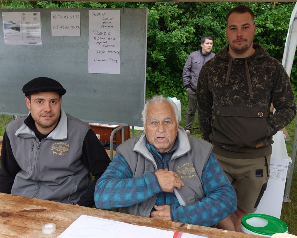
<instances>
[{"instance_id":1,"label":"printed text-only white sheet beside the sheet with a blue picture","mask_svg":"<svg viewBox=\"0 0 297 238\"><path fill-rule=\"evenodd\" d=\"M22 12L23 45L41 45L40 12Z\"/></svg>"}]
</instances>

